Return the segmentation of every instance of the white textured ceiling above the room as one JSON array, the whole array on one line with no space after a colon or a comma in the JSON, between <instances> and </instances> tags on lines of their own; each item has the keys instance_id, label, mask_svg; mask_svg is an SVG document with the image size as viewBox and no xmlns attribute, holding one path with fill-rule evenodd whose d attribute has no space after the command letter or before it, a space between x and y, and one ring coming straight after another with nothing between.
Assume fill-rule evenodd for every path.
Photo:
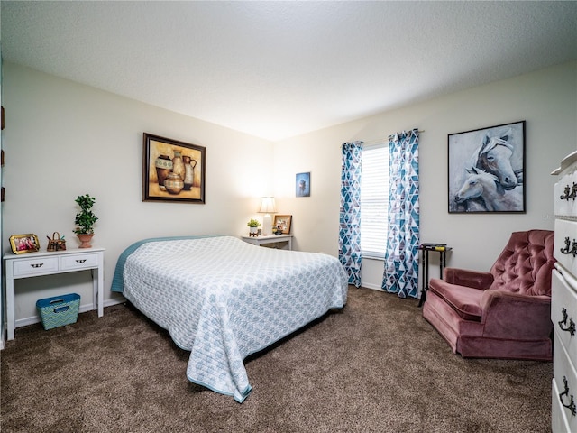
<instances>
[{"instance_id":1,"label":"white textured ceiling above the room","mask_svg":"<svg viewBox=\"0 0 577 433\"><path fill-rule=\"evenodd\" d=\"M2 2L2 56L270 141L577 60L577 2Z\"/></svg>"}]
</instances>

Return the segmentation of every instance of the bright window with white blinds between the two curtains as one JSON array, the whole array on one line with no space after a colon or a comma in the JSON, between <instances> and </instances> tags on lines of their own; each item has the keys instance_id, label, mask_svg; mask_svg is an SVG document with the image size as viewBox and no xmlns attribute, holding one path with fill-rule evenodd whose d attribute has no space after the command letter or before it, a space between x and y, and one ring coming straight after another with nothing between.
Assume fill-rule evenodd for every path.
<instances>
[{"instance_id":1,"label":"bright window with white blinds between the two curtains","mask_svg":"<svg viewBox=\"0 0 577 433\"><path fill-rule=\"evenodd\" d=\"M389 215L389 144L362 149L361 249L362 257L384 259Z\"/></svg>"}]
</instances>

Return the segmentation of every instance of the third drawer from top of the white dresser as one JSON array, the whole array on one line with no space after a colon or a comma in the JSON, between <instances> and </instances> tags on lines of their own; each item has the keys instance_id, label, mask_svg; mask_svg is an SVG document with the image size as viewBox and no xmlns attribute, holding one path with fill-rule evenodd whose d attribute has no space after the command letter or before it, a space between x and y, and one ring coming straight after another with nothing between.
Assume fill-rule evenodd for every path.
<instances>
[{"instance_id":1,"label":"third drawer from top of the white dresser","mask_svg":"<svg viewBox=\"0 0 577 433\"><path fill-rule=\"evenodd\" d=\"M551 279L551 321L555 333L563 342L567 353L577 360L577 292L572 290L568 281L557 270ZM577 282L577 281L572 281ZM573 329L573 335L570 330Z\"/></svg>"}]
</instances>

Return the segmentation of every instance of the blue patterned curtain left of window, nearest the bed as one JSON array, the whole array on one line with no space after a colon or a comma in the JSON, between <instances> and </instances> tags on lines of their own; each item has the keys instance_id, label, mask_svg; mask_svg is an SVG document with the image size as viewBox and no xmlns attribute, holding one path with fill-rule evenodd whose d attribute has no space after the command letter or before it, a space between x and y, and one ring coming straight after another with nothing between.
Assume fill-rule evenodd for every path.
<instances>
[{"instance_id":1,"label":"blue patterned curtain left of window, nearest the bed","mask_svg":"<svg viewBox=\"0 0 577 433\"><path fill-rule=\"evenodd\" d=\"M361 286L361 161L362 142L343 143L339 260L349 284Z\"/></svg>"}]
</instances>

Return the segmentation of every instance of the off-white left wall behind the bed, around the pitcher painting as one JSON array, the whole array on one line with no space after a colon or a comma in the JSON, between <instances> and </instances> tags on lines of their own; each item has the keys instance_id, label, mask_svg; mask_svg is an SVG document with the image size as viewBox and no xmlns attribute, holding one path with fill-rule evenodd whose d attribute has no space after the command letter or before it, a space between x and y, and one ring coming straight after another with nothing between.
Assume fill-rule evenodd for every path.
<instances>
[{"instance_id":1,"label":"off-white left wall behind the bed, around the pitcher painting","mask_svg":"<svg viewBox=\"0 0 577 433\"><path fill-rule=\"evenodd\" d=\"M165 235L242 235L271 195L273 146L247 134L125 97L4 64L6 128L4 249L10 235L72 233L74 199L96 198L93 244L104 246L105 305L118 255L133 242ZM142 133L206 147L206 204L142 202ZM83 275L86 273L86 275ZM38 290L46 288L47 290ZM90 299L89 272L16 283L16 319L36 315L35 301L76 291Z\"/></svg>"}]
</instances>

